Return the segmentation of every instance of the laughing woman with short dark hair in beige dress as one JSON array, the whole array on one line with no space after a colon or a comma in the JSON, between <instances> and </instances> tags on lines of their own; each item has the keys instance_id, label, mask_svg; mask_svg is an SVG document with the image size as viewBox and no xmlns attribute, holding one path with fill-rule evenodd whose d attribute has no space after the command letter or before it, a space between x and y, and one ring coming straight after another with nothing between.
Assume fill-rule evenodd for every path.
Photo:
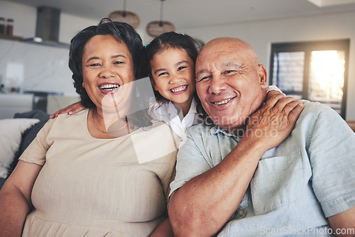
<instances>
[{"instance_id":1,"label":"laughing woman with short dark hair in beige dress","mask_svg":"<svg viewBox=\"0 0 355 237\"><path fill-rule=\"evenodd\" d=\"M72 39L70 70L87 109L48 121L21 155L0 192L0 236L169 230L166 196L178 137L132 104L144 94L134 84L142 48L131 26L108 19Z\"/></svg>"}]
</instances>

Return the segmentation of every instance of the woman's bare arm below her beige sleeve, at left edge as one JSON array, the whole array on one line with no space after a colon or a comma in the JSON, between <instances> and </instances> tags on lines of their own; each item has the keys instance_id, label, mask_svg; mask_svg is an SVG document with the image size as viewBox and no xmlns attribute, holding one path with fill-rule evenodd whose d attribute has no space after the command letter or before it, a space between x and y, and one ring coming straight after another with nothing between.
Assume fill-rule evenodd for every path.
<instances>
[{"instance_id":1,"label":"woman's bare arm below her beige sleeve, at left edge","mask_svg":"<svg viewBox=\"0 0 355 237\"><path fill-rule=\"evenodd\" d=\"M21 236L26 216L33 208L31 192L42 166L22 160L0 190L0 236Z\"/></svg>"}]
</instances>

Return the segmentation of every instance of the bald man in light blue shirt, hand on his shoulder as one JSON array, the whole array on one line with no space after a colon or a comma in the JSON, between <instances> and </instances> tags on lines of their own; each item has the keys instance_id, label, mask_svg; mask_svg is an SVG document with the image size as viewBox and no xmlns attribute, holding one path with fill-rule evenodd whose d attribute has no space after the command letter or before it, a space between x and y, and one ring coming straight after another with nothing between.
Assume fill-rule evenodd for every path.
<instances>
[{"instance_id":1,"label":"bald man in light blue shirt, hand on his shoulder","mask_svg":"<svg viewBox=\"0 0 355 237\"><path fill-rule=\"evenodd\" d=\"M237 38L204 45L196 77L207 119L178 153L175 236L354 236L355 133L345 121L319 103L266 101L266 68Z\"/></svg>"}]
</instances>

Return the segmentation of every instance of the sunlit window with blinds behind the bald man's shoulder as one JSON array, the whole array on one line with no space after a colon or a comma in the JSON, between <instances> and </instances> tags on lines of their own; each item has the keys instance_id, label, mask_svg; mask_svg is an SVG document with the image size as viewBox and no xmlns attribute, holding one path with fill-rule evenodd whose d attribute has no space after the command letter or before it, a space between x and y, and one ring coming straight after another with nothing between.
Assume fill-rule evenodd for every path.
<instances>
[{"instance_id":1,"label":"sunlit window with blinds behind the bald man's shoulder","mask_svg":"<svg viewBox=\"0 0 355 237\"><path fill-rule=\"evenodd\" d=\"M272 84L297 99L331 106L343 118L350 40L271 45Z\"/></svg>"}]
</instances>

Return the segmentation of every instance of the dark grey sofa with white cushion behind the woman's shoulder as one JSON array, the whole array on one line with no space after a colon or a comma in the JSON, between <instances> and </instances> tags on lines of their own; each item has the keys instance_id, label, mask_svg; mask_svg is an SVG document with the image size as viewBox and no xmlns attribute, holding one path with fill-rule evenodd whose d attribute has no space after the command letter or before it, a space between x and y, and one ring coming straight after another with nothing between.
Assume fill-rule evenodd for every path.
<instances>
[{"instance_id":1,"label":"dark grey sofa with white cushion behind the woman's shoulder","mask_svg":"<svg viewBox=\"0 0 355 237\"><path fill-rule=\"evenodd\" d=\"M0 189L49 116L44 111L33 110L0 119Z\"/></svg>"}]
</instances>

